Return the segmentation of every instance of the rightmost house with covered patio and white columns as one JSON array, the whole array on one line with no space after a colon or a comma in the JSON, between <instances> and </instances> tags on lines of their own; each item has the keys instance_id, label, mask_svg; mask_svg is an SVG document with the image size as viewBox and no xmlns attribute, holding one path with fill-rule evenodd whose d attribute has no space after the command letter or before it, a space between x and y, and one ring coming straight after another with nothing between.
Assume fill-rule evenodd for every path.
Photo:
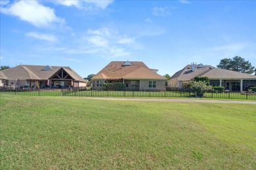
<instances>
[{"instance_id":1,"label":"rightmost house with covered patio and white columns","mask_svg":"<svg viewBox=\"0 0 256 170\"><path fill-rule=\"evenodd\" d=\"M256 74L256 73L255 73ZM256 86L256 75L220 69L211 65L190 64L177 71L169 80L168 87L182 88L184 81L193 80L196 76L207 76L211 86L223 86L225 90L240 91Z\"/></svg>"}]
</instances>

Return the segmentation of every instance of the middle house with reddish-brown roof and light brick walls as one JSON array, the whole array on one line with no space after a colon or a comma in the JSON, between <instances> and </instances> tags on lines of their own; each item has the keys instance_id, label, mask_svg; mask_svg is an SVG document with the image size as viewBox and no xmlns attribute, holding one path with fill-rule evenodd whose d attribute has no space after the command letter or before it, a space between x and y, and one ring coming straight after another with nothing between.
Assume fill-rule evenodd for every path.
<instances>
[{"instance_id":1,"label":"middle house with reddish-brown roof and light brick walls","mask_svg":"<svg viewBox=\"0 0 256 170\"><path fill-rule=\"evenodd\" d=\"M104 89L104 83L121 82L126 90L165 91L165 77L141 61L112 61L93 76L93 90Z\"/></svg>"}]
</instances>

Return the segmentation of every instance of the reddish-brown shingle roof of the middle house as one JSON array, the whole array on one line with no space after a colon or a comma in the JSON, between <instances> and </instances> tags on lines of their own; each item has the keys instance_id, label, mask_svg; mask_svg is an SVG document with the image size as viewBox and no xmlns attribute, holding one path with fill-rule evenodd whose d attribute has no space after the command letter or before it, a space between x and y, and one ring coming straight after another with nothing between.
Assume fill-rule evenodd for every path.
<instances>
[{"instance_id":1,"label":"reddish-brown shingle roof of the middle house","mask_svg":"<svg viewBox=\"0 0 256 170\"><path fill-rule=\"evenodd\" d=\"M100 72L93 76L93 80L104 79L158 79L165 80L165 77L158 75L149 69L141 61L112 61Z\"/></svg>"}]
</instances>

